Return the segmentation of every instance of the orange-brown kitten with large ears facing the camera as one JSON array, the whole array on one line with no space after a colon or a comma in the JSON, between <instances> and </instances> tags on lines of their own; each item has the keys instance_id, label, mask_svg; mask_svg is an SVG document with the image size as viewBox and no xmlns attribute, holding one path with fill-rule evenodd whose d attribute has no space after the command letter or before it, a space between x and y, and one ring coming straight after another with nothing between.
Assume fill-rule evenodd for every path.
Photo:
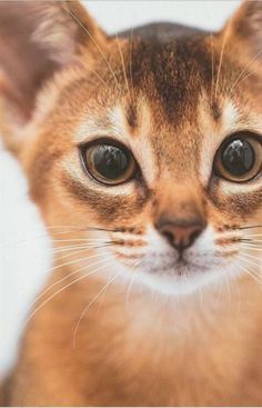
<instances>
[{"instance_id":1,"label":"orange-brown kitten with large ears facing the camera","mask_svg":"<svg viewBox=\"0 0 262 408\"><path fill-rule=\"evenodd\" d=\"M261 46L260 1L117 36L0 2L1 133L53 242L7 406L262 405Z\"/></svg>"}]
</instances>

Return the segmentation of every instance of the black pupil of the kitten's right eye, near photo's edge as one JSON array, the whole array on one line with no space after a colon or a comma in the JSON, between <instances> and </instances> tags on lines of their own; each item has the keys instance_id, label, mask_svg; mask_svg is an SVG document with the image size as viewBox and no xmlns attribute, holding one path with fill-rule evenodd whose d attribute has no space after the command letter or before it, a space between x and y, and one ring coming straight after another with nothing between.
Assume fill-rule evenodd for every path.
<instances>
[{"instance_id":1,"label":"black pupil of the kitten's right eye, near photo's edge","mask_svg":"<svg viewBox=\"0 0 262 408\"><path fill-rule=\"evenodd\" d=\"M232 176L243 176L254 166L255 153L252 146L242 139L231 141L222 151L222 163Z\"/></svg>"}]
</instances>

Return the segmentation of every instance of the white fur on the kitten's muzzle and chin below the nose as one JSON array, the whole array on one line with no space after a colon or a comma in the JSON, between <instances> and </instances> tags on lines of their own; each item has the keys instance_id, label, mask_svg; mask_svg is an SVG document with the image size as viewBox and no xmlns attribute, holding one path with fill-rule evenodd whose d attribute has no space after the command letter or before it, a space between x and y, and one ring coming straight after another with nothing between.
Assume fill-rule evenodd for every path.
<instances>
[{"instance_id":1,"label":"white fur on the kitten's muzzle and chin below the nose","mask_svg":"<svg viewBox=\"0 0 262 408\"><path fill-rule=\"evenodd\" d=\"M180 297L198 293L203 288L213 289L218 285L229 282L241 272L238 258L226 258L225 261L222 255L218 256L215 238L218 237L212 227L208 227L185 251L188 265L179 270L178 253L154 228L150 227L143 236L148 245L143 247L142 253L141 248L139 251L132 249L133 253L141 255L134 266L131 268L115 259L113 269L122 278L132 280L132 285L142 285L150 291L164 296Z\"/></svg>"}]
</instances>

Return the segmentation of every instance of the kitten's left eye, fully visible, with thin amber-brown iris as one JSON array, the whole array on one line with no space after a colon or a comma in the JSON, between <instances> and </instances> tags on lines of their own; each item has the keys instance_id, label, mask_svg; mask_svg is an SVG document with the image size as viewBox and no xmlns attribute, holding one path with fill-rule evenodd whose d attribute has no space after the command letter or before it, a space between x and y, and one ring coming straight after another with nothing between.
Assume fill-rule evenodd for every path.
<instances>
[{"instance_id":1,"label":"kitten's left eye, fully visible, with thin amber-brown iris","mask_svg":"<svg viewBox=\"0 0 262 408\"><path fill-rule=\"evenodd\" d=\"M84 147L85 170L97 181L117 186L132 179L138 170L133 155L124 146L111 141L97 141Z\"/></svg>"}]
</instances>

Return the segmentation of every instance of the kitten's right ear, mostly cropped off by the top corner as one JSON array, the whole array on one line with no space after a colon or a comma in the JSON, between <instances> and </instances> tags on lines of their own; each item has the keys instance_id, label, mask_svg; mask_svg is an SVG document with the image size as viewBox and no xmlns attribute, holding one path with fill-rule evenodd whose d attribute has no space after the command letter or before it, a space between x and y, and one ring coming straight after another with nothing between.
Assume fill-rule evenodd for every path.
<instances>
[{"instance_id":1,"label":"kitten's right ear, mostly cropped off by the top corner","mask_svg":"<svg viewBox=\"0 0 262 408\"><path fill-rule=\"evenodd\" d=\"M228 22L232 44L239 52L262 61L262 1L244 0L233 17Z\"/></svg>"}]
</instances>

